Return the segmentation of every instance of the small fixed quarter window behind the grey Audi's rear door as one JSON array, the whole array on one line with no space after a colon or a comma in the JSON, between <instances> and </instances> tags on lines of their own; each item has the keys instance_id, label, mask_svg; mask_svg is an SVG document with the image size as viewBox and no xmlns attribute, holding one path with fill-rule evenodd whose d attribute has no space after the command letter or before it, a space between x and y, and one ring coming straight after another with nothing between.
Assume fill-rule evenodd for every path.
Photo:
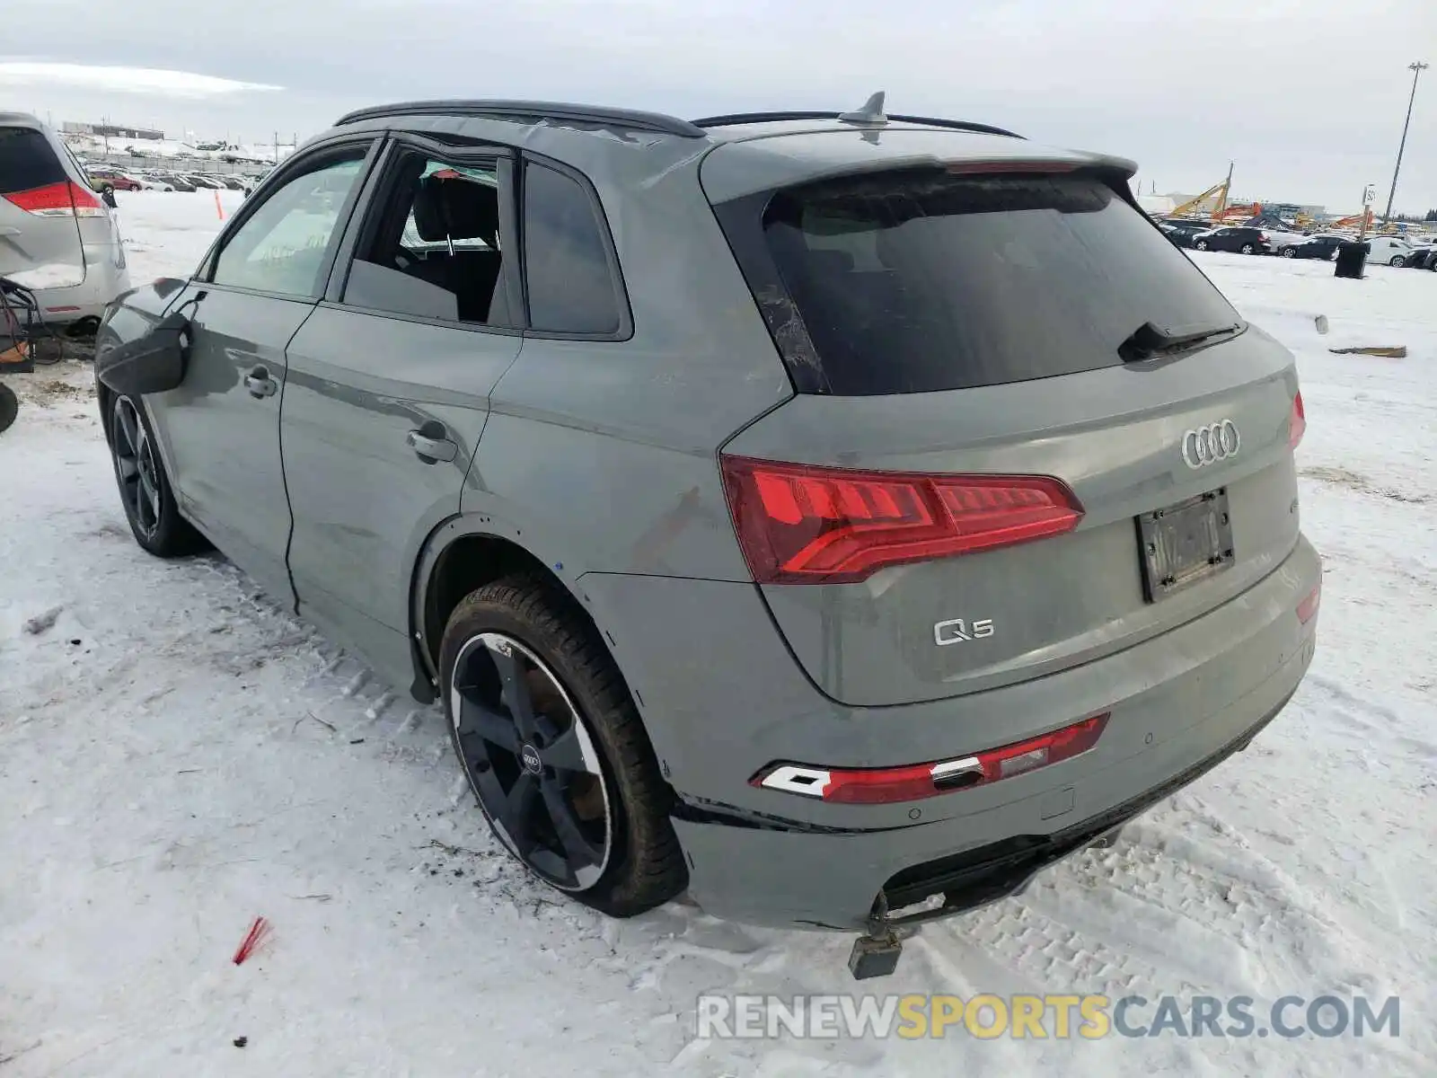
<instances>
[{"instance_id":1,"label":"small fixed quarter window behind the grey Audi's rear door","mask_svg":"<svg viewBox=\"0 0 1437 1078\"><path fill-rule=\"evenodd\" d=\"M525 273L529 325L558 333L614 333L619 292L595 207L572 178L525 165Z\"/></svg>"}]
</instances>

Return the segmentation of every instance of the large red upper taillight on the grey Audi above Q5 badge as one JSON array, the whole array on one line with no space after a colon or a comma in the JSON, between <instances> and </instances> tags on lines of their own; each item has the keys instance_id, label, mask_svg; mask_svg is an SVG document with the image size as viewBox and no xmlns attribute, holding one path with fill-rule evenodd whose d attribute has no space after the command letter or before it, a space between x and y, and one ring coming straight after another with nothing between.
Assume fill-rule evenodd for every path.
<instances>
[{"instance_id":1,"label":"large red upper taillight on the grey Audi above Q5 badge","mask_svg":"<svg viewBox=\"0 0 1437 1078\"><path fill-rule=\"evenodd\" d=\"M845 584L904 562L1071 532L1049 476L927 476L723 459L739 545L760 584Z\"/></svg>"}]
</instances>

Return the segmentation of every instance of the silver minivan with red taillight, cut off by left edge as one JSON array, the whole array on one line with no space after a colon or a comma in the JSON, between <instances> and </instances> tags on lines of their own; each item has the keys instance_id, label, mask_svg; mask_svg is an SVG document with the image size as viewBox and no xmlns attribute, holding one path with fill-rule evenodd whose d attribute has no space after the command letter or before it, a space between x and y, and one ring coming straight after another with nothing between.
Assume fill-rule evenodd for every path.
<instances>
[{"instance_id":1,"label":"silver minivan with red taillight, cut off by left edge","mask_svg":"<svg viewBox=\"0 0 1437 1078\"><path fill-rule=\"evenodd\" d=\"M98 319L129 287L119 229L85 170L19 112L0 112L0 277L30 289L50 325Z\"/></svg>"}]
</instances>

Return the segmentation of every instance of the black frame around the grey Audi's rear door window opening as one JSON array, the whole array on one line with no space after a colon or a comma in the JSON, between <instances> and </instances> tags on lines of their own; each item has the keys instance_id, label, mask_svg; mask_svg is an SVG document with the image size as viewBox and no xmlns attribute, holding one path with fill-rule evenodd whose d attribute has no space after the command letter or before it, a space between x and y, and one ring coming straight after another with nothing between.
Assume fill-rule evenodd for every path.
<instances>
[{"instance_id":1,"label":"black frame around the grey Audi's rear door window opening","mask_svg":"<svg viewBox=\"0 0 1437 1078\"><path fill-rule=\"evenodd\" d=\"M349 285L349 272L355 263L355 252L362 250L374 237L374 230L379 227L379 220L394 194L394 165L401 154L427 154L431 160L454 164L464 164L471 160L494 161L499 174L499 234L509 236L510 246L519 244L517 223L514 220L514 148L497 142L464 141L441 142L425 138L412 131L391 131L384 139L384 149L375 161L374 168L365 178L362 204L349 218L349 227L341 239L336 252L335 272L329 275L329 286L325 289L322 305L336 310L349 310L375 318L389 318L401 322L417 322L421 325L443 326L444 329L463 329L471 333L491 333L499 336L517 336L525 332L526 306L523 305L519 259L503 259L500 263L499 282L506 292L510 322L517 325L496 326L486 322L460 322L458 319L428 318L424 315L410 315L401 310L385 310L382 308L366 308L358 303L346 303L345 289Z\"/></svg>"}]
</instances>

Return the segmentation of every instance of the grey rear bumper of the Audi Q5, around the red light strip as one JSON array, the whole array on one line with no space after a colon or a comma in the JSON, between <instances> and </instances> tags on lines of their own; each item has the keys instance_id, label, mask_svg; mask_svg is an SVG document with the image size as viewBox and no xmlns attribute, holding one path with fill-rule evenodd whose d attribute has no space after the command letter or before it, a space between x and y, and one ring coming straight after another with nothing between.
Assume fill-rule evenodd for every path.
<instances>
[{"instance_id":1,"label":"grey rear bumper of the Audi Q5, around the red light strip","mask_svg":"<svg viewBox=\"0 0 1437 1078\"><path fill-rule=\"evenodd\" d=\"M1321 576L1299 539L1259 584L1125 651L1032 681L901 707L844 707L783 650L752 585L588 575L618 632L665 776L690 891L754 924L864 929L890 906L946 894L992 901L1242 747L1295 691L1316 619L1298 604ZM740 635L741 634L741 635ZM747 779L773 760L894 766L1012 743L1089 714L1111 719L1071 760L900 805L832 805Z\"/></svg>"}]
</instances>

